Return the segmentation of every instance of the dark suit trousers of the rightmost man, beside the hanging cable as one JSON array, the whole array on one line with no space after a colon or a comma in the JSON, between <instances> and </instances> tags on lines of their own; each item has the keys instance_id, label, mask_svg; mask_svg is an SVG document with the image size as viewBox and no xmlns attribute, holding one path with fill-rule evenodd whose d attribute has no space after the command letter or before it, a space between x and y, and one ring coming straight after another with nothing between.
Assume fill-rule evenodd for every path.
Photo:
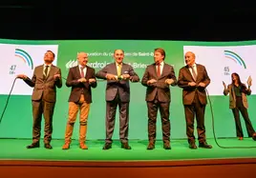
<instances>
[{"instance_id":1,"label":"dark suit trousers of the rightmost man, beside the hanging cable","mask_svg":"<svg viewBox=\"0 0 256 178\"><path fill-rule=\"evenodd\" d=\"M200 143L206 141L205 126L204 126L204 111L205 105L202 105L198 93L196 92L193 103L191 105L184 105L185 120L186 120L186 135L188 143L195 143L194 135L194 120L196 116L198 140Z\"/></svg>"}]
</instances>

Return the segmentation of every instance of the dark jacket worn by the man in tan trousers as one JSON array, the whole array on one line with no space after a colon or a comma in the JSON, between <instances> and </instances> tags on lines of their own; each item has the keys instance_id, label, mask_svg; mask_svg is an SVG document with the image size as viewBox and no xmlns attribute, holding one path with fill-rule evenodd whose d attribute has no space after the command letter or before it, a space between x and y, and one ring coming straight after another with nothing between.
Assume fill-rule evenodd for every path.
<instances>
[{"instance_id":1,"label":"dark jacket worn by the man in tan trousers","mask_svg":"<svg viewBox=\"0 0 256 178\"><path fill-rule=\"evenodd\" d=\"M78 79L81 78L79 67L73 67L69 70L69 74L66 81L67 87L72 87L69 102L78 102L81 94L84 94L86 103L93 103L92 100L92 88L96 88L96 82L89 84L80 83ZM95 69L86 66L85 78L88 81L90 78L96 79Z\"/></svg>"}]
</instances>

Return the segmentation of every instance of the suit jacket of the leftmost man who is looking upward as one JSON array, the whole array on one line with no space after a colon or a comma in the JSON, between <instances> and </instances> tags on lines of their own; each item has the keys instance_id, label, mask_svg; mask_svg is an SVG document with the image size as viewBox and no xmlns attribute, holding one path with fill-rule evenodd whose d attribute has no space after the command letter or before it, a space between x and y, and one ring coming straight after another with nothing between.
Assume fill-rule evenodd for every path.
<instances>
[{"instance_id":1,"label":"suit jacket of the leftmost man who is looking upward","mask_svg":"<svg viewBox=\"0 0 256 178\"><path fill-rule=\"evenodd\" d=\"M56 102L56 87L62 87L62 79L54 80L55 74L60 74L61 70L52 65L49 74L44 81L43 79L44 65L38 66L34 69L32 79L27 78L24 81L33 88L32 101L39 101L41 99L54 103Z\"/></svg>"}]
</instances>

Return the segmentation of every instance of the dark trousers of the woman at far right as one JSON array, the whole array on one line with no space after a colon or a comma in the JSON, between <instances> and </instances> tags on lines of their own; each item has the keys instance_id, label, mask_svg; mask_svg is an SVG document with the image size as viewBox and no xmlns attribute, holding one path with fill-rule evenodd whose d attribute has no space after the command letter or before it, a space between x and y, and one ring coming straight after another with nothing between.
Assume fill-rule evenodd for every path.
<instances>
[{"instance_id":1,"label":"dark trousers of the woman at far right","mask_svg":"<svg viewBox=\"0 0 256 178\"><path fill-rule=\"evenodd\" d=\"M245 127L247 130L248 137L252 137L252 134L255 131L254 131L252 124L249 120L247 109L245 109L245 107L243 105L242 97L240 97L240 96L236 97L236 108L232 109L232 112L233 112L233 115L235 118L237 137L244 137L239 111L242 113L242 116L244 117Z\"/></svg>"}]
</instances>

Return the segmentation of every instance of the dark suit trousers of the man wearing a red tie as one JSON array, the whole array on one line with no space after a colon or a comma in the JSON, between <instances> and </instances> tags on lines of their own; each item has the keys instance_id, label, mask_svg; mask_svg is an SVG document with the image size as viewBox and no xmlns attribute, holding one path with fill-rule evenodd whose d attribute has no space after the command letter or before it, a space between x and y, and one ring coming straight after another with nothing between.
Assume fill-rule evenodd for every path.
<instances>
[{"instance_id":1,"label":"dark suit trousers of the man wearing a red tie","mask_svg":"<svg viewBox=\"0 0 256 178\"><path fill-rule=\"evenodd\" d=\"M157 135L157 116L160 109L161 130L163 143L170 143L170 102L160 102L157 97L152 102L147 102L148 109L148 139L149 142L155 144Z\"/></svg>"}]
</instances>

